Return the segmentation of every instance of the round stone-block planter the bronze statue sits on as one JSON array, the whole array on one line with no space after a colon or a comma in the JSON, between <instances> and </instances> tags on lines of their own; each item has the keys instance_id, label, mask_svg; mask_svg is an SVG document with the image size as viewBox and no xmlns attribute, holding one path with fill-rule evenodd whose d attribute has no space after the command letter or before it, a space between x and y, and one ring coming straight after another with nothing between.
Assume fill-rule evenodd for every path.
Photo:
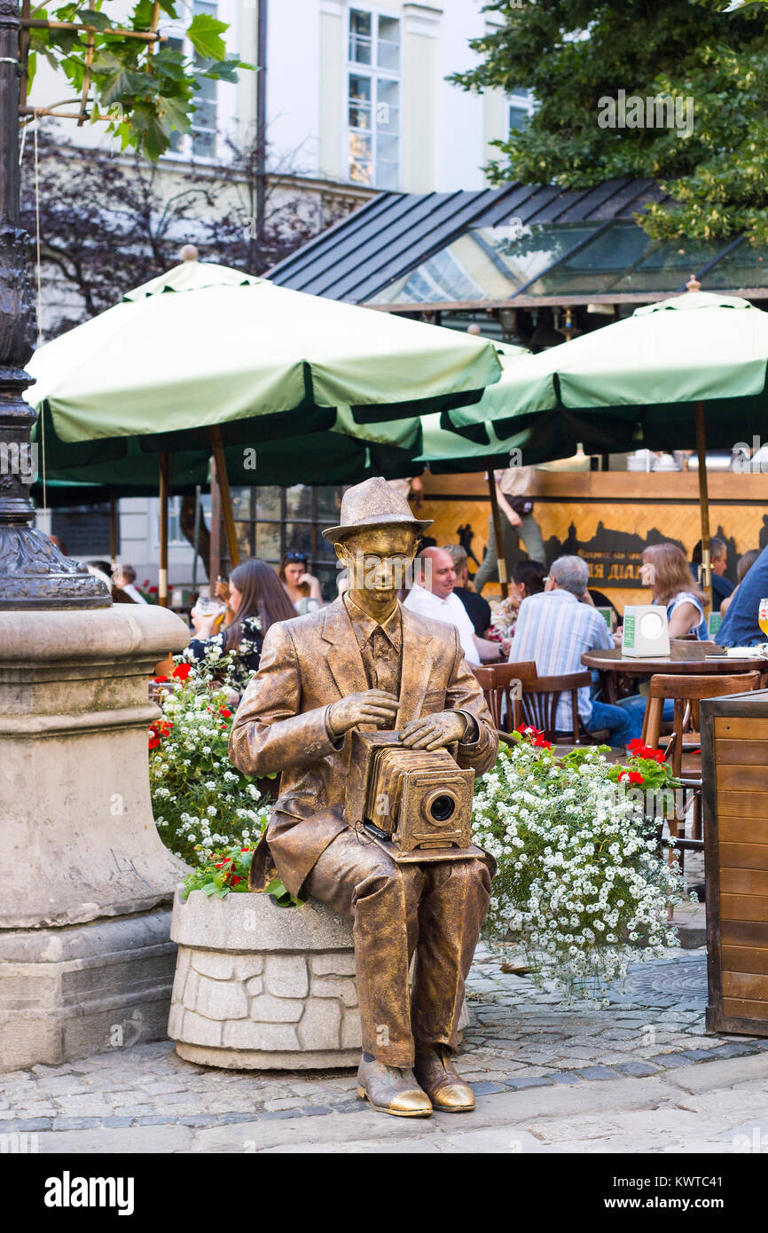
<instances>
[{"instance_id":1,"label":"round stone-block planter the bronze statue sits on","mask_svg":"<svg viewBox=\"0 0 768 1233\"><path fill-rule=\"evenodd\" d=\"M187 1062L228 1070L356 1067L361 1032L353 922L325 904L268 895L174 903L179 943L168 1034ZM466 1002L460 1027L468 1023Z\"/></svg>"}]
</instances>

